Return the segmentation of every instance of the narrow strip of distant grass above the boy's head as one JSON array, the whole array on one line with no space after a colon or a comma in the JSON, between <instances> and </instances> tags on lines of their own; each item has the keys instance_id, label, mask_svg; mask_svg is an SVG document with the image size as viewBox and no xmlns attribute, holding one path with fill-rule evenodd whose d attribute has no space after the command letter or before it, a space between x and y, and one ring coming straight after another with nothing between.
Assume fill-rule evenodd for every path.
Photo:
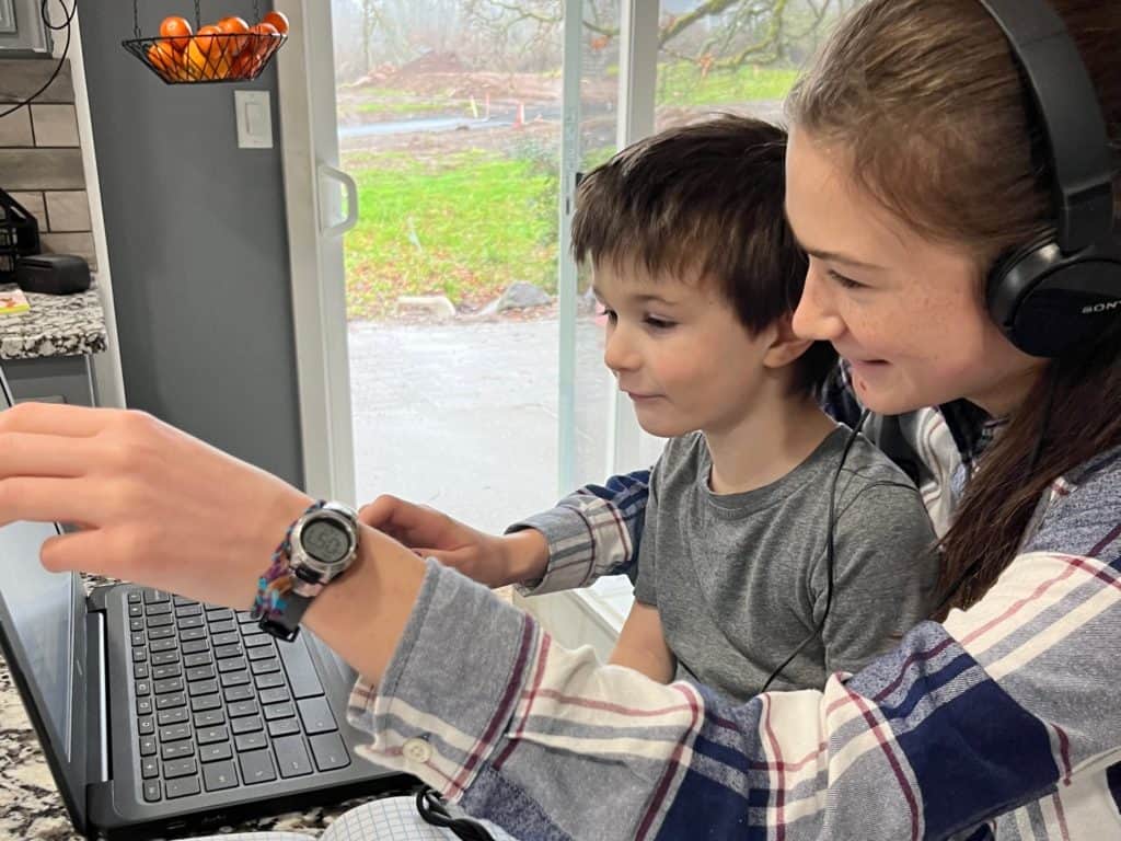
<instances>
[{"instance_id":1,"label":"narrow strip of distant grass above the boy's head","mask_svg":"<svg viewBox=\"0 0 1121 841\"><path fill-rule=\"evenodd\" d=\"M663 64L658 67L658 104L731 105L753 100L780 100L797 77L797 71L779 67L713 70L703 76L694 64Z\"/></svg>"}]
</instances>

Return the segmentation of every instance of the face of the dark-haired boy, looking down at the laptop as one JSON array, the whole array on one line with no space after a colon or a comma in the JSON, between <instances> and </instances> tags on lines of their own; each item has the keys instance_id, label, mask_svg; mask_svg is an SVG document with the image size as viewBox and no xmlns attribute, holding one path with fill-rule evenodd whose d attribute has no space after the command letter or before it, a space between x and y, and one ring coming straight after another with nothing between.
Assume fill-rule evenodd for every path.
<instances>
[{"instance_id":1,"label":"face of the dark-haired boy, looking down at the laptop","mask_svg":"<svg viewBox=\"0 0 1121 841\"><path fill-rule=\"evenodd\" d=\"M651 435L730 432L754 407L777 335L752 336L714 284L652 278L642 267L595 266L606 311L603 361ZM771 391L773 392L773 391Z\"/></svg>"}]
</instances>

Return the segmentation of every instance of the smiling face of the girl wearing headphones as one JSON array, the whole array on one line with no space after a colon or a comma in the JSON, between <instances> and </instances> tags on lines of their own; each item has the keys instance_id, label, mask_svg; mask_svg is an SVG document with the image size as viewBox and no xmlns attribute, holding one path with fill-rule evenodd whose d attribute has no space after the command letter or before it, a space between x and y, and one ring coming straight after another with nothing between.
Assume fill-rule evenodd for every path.
<instances>
[{"instance_id":1,"label":"smiling face of the girl wearing headphones","mask_svg":"<svg viewBox=\"0 0 1121 841\"><path fill-rule=\"evenodd\" d=\"M849 181L844 150L805 130L791 131L786 164L787 218L809 255L795 332L833 343L873 412L960 397L994 416L1013 410L1046 362L989 317L973 256L892 218Z\"/></svg>"}]
</instances>

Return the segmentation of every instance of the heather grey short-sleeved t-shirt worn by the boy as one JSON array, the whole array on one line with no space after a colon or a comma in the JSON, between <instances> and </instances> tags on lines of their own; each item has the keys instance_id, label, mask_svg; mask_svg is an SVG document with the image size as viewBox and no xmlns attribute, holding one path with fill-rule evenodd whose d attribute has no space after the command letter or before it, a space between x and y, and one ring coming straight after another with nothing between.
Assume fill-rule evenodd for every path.
<instances>
[{"instance_id":1,"label":"heather grey short-sleeved t-shirt worn by the boy","mask_svg":"<svg viewBox=\"0 0 1121 841\"><path fill-rule=\"evenodd\" d=\"M849 434L837 427L778 481L724 496L710 490L701 433L667 444L650 477L634 597L658 608L679 677L751 697L814 629L826 601L830 486ZM771 688L821 688L835 671L856 672L935 607L923 500L863 437L845 459L835 512L825 627Z\"/></svg>"}]
</instances>

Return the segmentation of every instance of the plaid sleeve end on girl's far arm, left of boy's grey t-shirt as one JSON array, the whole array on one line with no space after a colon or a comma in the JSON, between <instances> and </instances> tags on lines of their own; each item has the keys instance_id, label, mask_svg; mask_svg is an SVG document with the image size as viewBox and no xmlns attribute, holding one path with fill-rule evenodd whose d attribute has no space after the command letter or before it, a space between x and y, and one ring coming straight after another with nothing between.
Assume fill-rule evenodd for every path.
<instances>
[{"instance_id":1,"label":"plaid sleeve end on girl's far arm, left of boy's grey t-shirt","mask_svg":"<svg viewBox=\"0 0 1121 841\"><path fill-rule=\"evenodd\" d=\"M574 590L603 575L633 571L638 558L650 471L615 475L604 486L589 484L556 507L527 517L507 534L536 529L548 544L548 561L538 574L521 580L527 595Z\"/></svg>"}]
</instances>

